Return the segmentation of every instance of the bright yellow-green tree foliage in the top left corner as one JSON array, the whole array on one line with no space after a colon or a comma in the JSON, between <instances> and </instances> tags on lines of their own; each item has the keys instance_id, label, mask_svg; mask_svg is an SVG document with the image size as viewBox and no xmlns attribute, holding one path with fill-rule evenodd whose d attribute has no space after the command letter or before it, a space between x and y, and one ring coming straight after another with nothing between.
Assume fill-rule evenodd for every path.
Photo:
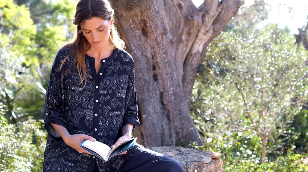
<instances>
[{"instance_id":1,"label":"bright yellow-green tree foliage in the top left corner","mask_svg":"<svg viewBox=\"0 0 308 172\"><path fill-rule=\"evenodd\" d=\"M45 6L46 8L36 9L33 6ZM58 46L67 38L65 33L72 32L73 25L68 22L68 17L74 14L74 3L72 1L27 1L20 6L13 0L0 3L0 21L2 48L9 47L17 57L24 57L24 63L34 66L40 62L50 62ZM30 14L29 4L32 12L36 15L44 14L46 18L37 20L40 23L34 24L33 18L38 16ZM45 10L50 10L48 13ZM49 15L48 15L49 14ZM42 17L42 16L40 16Z\"/></svg>"}]
</instances>

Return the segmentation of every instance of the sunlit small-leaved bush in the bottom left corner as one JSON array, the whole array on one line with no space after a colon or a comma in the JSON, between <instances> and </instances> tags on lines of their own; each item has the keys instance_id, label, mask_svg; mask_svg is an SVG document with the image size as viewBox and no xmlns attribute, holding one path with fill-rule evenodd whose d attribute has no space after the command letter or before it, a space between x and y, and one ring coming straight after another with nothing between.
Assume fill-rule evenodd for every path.
<instances>
[{"instance_id":1,"label":"sunlit small-leaved bush in the bottom left corner","mask_svg":"<svg viewBox=\"0 0 308 172\"><path fill-rule=\"evenodd\" d=\"M46 132L43 122L28 118L8 124L0 103L0 171L42 171Z\"/></svg>"}]
</instances>

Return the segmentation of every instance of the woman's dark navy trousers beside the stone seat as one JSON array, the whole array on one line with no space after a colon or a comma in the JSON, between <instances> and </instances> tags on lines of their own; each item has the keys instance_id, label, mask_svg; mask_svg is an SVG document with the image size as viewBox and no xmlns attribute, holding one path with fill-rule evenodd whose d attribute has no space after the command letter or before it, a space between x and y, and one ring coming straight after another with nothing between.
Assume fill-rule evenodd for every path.
<instances>
[{"instance_id":1,"label":"woman's dark navy trousers beside the stone seat","mask_svg":"<svg viewBox=\"0 0 308 172\"><path fill-rule=\"evenodd\" d=\"M180 162L141 146L134 151L122 172L185 172L185 170Z\"/></svg>"}]
</instances>

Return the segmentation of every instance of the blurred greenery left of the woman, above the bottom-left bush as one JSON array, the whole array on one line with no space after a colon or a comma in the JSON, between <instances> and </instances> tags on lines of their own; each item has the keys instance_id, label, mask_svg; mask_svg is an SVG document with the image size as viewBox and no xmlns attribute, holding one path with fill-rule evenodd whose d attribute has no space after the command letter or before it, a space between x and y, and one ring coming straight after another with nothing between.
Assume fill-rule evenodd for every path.
<instances>
[{"instance_id":1,"label":"blurred greenery left of the woman, above the bottom-left bush","mask_svg":"<svg viewBox=\"0 0 308 172\"><path fill-rule=\"evenodd\" d=\"M74 6L72 0L0 2L0 102L10 123L42 118L47 71L73 35Z\"/></svg>"}]
</instances>

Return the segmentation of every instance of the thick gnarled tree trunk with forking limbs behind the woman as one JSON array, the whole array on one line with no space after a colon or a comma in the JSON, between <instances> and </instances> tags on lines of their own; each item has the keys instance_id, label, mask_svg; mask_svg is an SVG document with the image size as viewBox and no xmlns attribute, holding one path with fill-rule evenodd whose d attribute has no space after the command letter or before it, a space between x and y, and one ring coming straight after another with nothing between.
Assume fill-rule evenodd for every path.
<instances>
[{"instance_id":1,"label":"thick gnarled tree trunk with forking limbs behind the woman","mask_svg":"<svg viewBox=\"0 0 308 172\"><path fill-rule=\"evenodd\" d=\"M116 25L135 60L140 126L134 135L152 146L202 145L189 108L197 70L209 42L240 0L116 0Z\"/></svg>"}]
</instances>

